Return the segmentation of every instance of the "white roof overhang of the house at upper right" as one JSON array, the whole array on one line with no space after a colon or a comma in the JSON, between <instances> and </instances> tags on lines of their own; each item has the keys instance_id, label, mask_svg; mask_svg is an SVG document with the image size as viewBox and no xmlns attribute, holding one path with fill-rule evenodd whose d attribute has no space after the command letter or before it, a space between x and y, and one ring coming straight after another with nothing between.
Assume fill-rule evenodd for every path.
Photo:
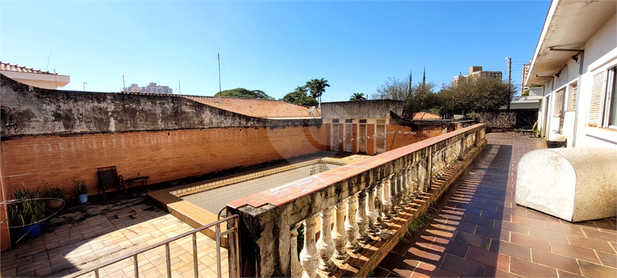
<instances>
[{"instance_id":1,"label":"white roof overhang of the house at upper right","mask_svg":"<svg viewBox=\"0 0 617 278\"><path fill-rule=\"evenodd\" d=\"M546 84L617 10L617 2L553 0L525 86ZM559 50L561 49L561 50ZM573 49L564 51L563 49Z\"/></svg>"}]
</instances>

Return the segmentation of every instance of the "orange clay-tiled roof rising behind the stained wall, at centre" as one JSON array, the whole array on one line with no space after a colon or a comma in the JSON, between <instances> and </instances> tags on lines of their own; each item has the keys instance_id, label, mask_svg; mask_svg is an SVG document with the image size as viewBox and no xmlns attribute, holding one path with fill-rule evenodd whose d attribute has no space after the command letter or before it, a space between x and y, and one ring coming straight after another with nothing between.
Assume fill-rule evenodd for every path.
<instances>
[{"instance_id":1,"label":"orange clay-tiled roof rising behind the stained wall, at centre","mask_svg":"<svg viewBox=\"0 0 617 278\"><path fill-rule=\"evenodd\" d=\"M236 97L183 96L189 100L233 113L258 118L319 117L319 108L311 109L278 100L256 100Z\"/></svg>"}]
</instances>

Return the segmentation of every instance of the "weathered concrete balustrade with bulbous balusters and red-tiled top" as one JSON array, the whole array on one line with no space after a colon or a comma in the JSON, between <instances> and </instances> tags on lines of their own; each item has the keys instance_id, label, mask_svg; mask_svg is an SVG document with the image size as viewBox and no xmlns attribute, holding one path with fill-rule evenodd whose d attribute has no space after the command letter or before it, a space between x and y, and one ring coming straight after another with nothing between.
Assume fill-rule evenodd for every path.
<instances>
[{"instance_id":1,"label":"weathered concrete balustrade with bulbous balusters and red-tiled top","mask_svg":"<svg viewBox=\"0 0 617 278\"><path fill-rule=\"evenodd\" d=\"M228 213L241 216L241 250L229 250L241 263L230 261L230 277L366 276L485 146L484 129L470 126L228 202Z\"/></svg>"}]
</instances>

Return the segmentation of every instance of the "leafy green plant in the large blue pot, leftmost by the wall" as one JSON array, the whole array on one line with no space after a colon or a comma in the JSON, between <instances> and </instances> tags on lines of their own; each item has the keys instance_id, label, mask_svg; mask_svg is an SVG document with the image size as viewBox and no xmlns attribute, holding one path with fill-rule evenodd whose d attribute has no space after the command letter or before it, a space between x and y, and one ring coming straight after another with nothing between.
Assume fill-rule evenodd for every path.
<instances>
[{"instance_id":1,"label":"leafy green plant in the large blue pot, leftmost by the wall","mask_svg":"<svg viewBox=\"0 0 617 278\"><path fill-rule=\"evenodd\" d=\"M45 220L45 202L38 199L38 188L28 189L23 185L14 190L9 202L9 224L13 243L24 238L40 235L40 224Z\"/></svg>"}]
</instances>

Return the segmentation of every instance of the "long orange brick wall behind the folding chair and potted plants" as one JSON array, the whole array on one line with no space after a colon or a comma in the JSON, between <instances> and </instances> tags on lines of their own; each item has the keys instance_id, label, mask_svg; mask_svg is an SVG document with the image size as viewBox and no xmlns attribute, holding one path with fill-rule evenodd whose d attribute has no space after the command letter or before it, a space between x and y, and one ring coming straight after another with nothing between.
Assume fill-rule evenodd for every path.
<instances>
[{"instance_id":1,"label":"long orange brick wall behind the folding chair and potted plants","mask_svg":"<svg viewBox=\"0 0 617 278\"><path fill-rule=\"evenodd\" d=\"M139 172L152 184L322 150L326 132L317 126L22 137L1 141L1 184L10 196L21 182L37 187L45 180L73 198L74 175L97 194L97 167L116 165L125 178Z\"/></svg>"}]
</instances>

